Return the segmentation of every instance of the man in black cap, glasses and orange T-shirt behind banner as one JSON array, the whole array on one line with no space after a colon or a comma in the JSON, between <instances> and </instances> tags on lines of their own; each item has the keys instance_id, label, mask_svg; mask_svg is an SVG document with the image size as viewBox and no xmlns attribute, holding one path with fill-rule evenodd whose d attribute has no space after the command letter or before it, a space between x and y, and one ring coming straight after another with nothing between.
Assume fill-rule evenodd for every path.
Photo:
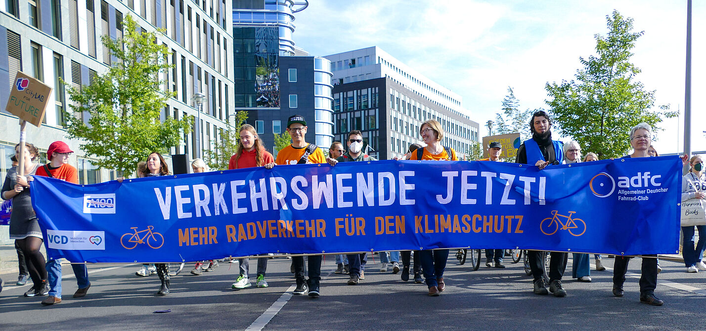
<instances>
[{"instance_id":1,"label":"man in black cap, glasses and orange T-shirt behind banner","mask_svg":"<svg viewBox=\"0 0 706 331\"><path fill-rule=\"evenodd\" d=\"M265 168L271 169L275 164L309 164L326 163L326 156L323 155L318 146L309 144L304 140L306 135L306 120L301 115L292 115L287 119L287 132L292 137L292 144L283 148L277 153L277 160L268 163ZM293 256L294 277L297 277L297 288L292 294L306 294L309 296L319 296L319 283L321 282L321 255L309 256L309 281L304 282L304 256Z\"/></svg>"}]
</instances>

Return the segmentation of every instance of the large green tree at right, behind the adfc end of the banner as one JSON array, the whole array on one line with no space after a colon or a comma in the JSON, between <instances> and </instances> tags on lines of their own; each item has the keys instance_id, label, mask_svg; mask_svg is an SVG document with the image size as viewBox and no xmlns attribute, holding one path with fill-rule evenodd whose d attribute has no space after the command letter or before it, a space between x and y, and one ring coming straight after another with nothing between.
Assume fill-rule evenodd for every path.
<instances>
[{"instance_id":1,"label":"large green tree at right, behind the adfc end of the banner","mask_svg":"<svg viewBox=\"0 0 706 331\"><path fill-rule=\"evenodd\" d=\"M547 83L546 101L559 131L573 137L584 152L599 158L624 155L630 149L630 128L649 123L655 131L662 117L676 115L669 106L654 106L654 91L646 91L635 76L640 69L630 63L632 49L643 32L633 32L633 19L618 11L606 15L608 34L595 35L596 56L580 58L583 69L575 80Z\"/></svg>"}]
</instances>

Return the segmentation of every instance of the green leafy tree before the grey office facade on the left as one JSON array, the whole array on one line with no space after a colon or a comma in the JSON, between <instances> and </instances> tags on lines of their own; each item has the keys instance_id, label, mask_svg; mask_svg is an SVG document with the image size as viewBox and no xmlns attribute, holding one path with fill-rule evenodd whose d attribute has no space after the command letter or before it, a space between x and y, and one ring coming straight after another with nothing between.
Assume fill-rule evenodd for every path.
<instances>
[{"instance_id":1,"label":"green leafy tree before the grey office facade on the left","mask_svg":"<svg viewBox=\"0 0 706 331\"><path fill-rule=\"evenodd\" d=\"M159 79L172 68L164 59L169 50L157 44L157 33L140 32L131 15L124 19L124 36L113 40L102 36L102 44L115 61L92 85L75 89L68 85L71 109L67 136L81 139L81 149L97 157L101 168L115 169L119 176L134 173L136 163L151 151L167 152L189 133L191 120L160 121L165 101L175 94L164 92ZM88 125L82 116L88 113Z\"/></svg>"}]
</instances>

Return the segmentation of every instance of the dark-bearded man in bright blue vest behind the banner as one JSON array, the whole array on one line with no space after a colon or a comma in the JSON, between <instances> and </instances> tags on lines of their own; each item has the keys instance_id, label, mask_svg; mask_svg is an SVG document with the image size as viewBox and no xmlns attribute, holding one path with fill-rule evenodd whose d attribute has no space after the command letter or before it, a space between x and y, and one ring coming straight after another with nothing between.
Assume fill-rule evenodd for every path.
<instances>
[{"instance_id":1,"label":"dark-bearded man in bright blue vest behind the banner","mask_svg":"<svg viewBox=\"0 0 706 331\"><path fill-rule=\"evenodd\" d=\"M517 149L517 163L537 165L540 170L547 165L563 163L563 142L551 139L551 118L544 111L536 111L530 120L532 139L527 139ZM549 262L549 292L544 282L544 258L542 251L527 251L530 268L534 277L534 294L549 294L566 296L566 289L561 286L561 277L566 270L568 255L561 252L551 252Z\"/></svg>"}]
</instances>

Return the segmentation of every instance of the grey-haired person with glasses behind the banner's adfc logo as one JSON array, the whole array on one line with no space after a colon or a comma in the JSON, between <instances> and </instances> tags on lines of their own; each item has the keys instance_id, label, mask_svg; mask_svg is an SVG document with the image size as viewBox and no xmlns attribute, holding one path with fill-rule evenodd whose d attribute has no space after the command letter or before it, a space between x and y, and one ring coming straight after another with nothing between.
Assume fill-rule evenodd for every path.
<instances>
[{"instance_id":1,"label":"grey-haired person with glasses behind the banner's adfc logo","mask_svg":"<svg viewBox=\"0 0 706 331\"><path fill-rule=\"evenodd\" d=\"M633 154L623 156L623 158L646 158L649 157L647 149L650 148L652 140L652 127L647 123L635 125L630 130L630 146L633 146ZM647 222L647 220L645 220ZM628 273L629 256L616 256L613 267L613 295L624 296L625 275ZM657 288L657 254L642 256L642 275L640 276L640 302L652 306L662 306L664 301L654 296L654 289Z\"/></svg>"}]
</instances>

